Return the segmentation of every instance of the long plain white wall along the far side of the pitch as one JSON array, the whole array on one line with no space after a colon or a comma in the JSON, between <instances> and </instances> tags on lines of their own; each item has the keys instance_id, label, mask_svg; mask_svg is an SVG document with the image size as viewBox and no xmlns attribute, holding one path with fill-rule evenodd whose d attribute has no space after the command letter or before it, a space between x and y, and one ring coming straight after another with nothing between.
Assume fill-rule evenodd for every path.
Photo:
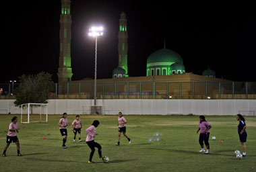
<instances>
[{"instance_id":1,"label":"long plain white wall along the far side of the pitch","mask_svg":"<svg viewBox=\"0 0 256 172\"><path fill-rule=\"evenodd\" d=\"M0 114L20 114L13 99L0 99ZM93 99L50 99L49 114L90 114ZM99 99L104 114L255 115L255 99ZM36 108L34 110L36 112Z\"/></svg>"}]
</instances>

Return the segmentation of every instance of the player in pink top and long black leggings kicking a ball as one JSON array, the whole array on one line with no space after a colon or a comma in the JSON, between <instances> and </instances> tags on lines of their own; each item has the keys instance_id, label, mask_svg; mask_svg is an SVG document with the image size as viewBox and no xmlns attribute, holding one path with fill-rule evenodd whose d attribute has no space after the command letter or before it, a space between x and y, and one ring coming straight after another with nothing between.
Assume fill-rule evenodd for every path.
<instances>
[{"instance_id":1,"label":"player in pink top and long black leggings kicking a ball","mask_svg":"<svg viewBox=\"0 0 256 172\"><path fill-rule=\"evenodd\" d=\"M92 162L92 157L94 156L94 152L95 152L95 148L98 148L98 155L100 156L100 160L104 161L104 157L102 157L102 153L101 153L101 146L100 144L98 144L98 142L96 142L94 140L94 137L96 135L98 135L96 133L96 127L100 125L100 122L98 120L94 120L94 122L92 122L92 126L88 127L86 129L86 143L88 144L88 146L90 147L90 149L92 150L90 153L90 159L88 161L89 164L94 163Z\"/></svg>"}]
</instances>

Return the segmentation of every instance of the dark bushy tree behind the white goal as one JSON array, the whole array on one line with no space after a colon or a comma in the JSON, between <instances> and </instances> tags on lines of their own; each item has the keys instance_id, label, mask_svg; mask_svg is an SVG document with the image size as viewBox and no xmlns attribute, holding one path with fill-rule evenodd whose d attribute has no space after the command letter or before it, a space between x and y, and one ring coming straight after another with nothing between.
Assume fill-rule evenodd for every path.
<instances>
[{"instance_id":1,"label":"dark bushy tree behind the white goal","mask_svg":"<svg viewBox=\"0 0 256 172\"><path fill-rule=\"evenodd\" d=\"M52 75L38 73L38 75L22 75L20 79L20 91L16 96L16 106L24 103L48 103L49 94L54 91Z\"/></svg>"}]
</instances>

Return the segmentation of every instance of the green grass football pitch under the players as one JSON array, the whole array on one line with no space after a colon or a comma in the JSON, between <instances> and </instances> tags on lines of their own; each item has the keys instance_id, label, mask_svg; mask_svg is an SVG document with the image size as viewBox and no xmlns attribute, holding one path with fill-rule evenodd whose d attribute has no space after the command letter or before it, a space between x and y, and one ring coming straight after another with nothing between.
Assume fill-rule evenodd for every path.
<instances>
[{"instance_id":1,"label":"green grass football pitch under the players","mask_svg":"<svg viewBox=\"0 0 256 172\"><path fill-rule=\"evenodd\" d=\"M9 123L13 115L0 115L0 151L6 142ZM199 116L125 116L127 135L131 144L121 136L117 142L117 116L81 116L82 140L85 129L93 120L99 120L95 140L102 146L102 155L108 163L98 159L89 165L90 148L86 142L73 142L68 128L67 149L61 147L62 137L57 126L61 116L49 116L48 123L20 124L18 138L23 157L17 157L15 144L7 150L7 157L0 157L0 171L256 171L256 118L246 117L247 157L236 159L234 150L241 150L235 116L206 116L212 125L210 155L199 153L196 134ZM20 118L20 116L18 116ZM69 123L75 116L67 116ZM159 141L148 141L160 132ZM45 138L44 140L42 138ZM224 142L219 142L223 140Z\"/></svg>"}]
</instances>

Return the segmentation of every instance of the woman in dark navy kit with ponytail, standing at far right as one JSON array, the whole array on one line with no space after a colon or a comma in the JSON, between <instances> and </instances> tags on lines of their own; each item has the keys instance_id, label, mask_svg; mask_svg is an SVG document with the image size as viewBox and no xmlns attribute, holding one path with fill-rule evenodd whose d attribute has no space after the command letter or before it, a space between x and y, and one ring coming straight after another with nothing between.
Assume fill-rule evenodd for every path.
<instances>
[{"instance_id":1,"label":"woman in dark navy kit with ponytail, standing at far right","mask_svg":"<svg viewBox=\"0 0 256 172\"><path fill-rule=\"evenodd\" d=\"M241 115L241 114L237 114L236 115L236 120L238 120L239 124L238 124L238 135L240 138L240 142L241 145L243 147L243 157L246 156L246 146L245 146L245 142L247 140L247 132L246 132L246 124L245 124L245 118Z\"/></svg>"}]
</instances>

